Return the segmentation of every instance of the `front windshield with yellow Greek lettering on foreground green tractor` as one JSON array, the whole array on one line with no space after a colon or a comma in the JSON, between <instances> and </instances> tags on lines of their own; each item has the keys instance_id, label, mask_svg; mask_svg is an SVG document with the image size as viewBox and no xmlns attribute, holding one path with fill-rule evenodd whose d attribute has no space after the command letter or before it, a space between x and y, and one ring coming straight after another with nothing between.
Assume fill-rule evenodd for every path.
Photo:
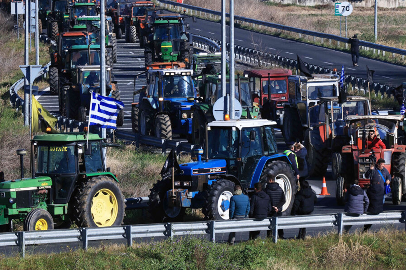
<instances>
[{"instance_id":1,"label":"front windshield with yellow Greek lettering on foreground green tractor","mask_svg":"<svg viewBox=\"0 0 406 270\"><path fill-rule=\"evenodd\" d=\"M75 146L38 146L38 174L74 174L76 172Z\"/></svg>"}]
</instances>

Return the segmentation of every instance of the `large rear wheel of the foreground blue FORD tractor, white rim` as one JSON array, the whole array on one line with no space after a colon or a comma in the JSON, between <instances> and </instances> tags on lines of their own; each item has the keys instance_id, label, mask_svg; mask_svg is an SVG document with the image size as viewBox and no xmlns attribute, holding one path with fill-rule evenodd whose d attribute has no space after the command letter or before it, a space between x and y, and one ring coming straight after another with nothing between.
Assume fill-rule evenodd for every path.
<instances>
[{"instance_id":1,"label":"large rear wheel of the foreground blue FORD tractor, white rim","mask_svg":"<svg viewBox=\"0 0 406 270\"><path fill-rule=\"evenodd\" d=\"M262 170L259 181L263 184L263 186L268 183L270 175L275 177L275 182L281 186L283 192L285 193L286 202L282 207L282 215L290 215L290 211L293 207L294 196L298 190L298 180L294 176L294 171L286 162L274 161L267 163Z\"/></svg>"}]
</instances>

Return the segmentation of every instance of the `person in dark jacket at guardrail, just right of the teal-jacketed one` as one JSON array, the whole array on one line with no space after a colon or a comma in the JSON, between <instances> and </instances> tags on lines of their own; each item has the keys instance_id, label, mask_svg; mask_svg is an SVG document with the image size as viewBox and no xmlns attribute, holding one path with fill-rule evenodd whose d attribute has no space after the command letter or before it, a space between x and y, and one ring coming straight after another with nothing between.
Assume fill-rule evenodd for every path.
<instances>
[{"instance_id":1,"label":"person in dark jacket at guardrail, just right of the teal-jacketed one","mask_svg":"<svg viewBox=\"0 0 406 270\"><path fill-rule=\"evenodd\" d=\"M251 198L250 217L254 219L265 219L272 210L268 194L262 191L262 184L255 183L255 193ZM255 240L261 231L250 231L250 239Z\"/></svg>"}]
</instances>

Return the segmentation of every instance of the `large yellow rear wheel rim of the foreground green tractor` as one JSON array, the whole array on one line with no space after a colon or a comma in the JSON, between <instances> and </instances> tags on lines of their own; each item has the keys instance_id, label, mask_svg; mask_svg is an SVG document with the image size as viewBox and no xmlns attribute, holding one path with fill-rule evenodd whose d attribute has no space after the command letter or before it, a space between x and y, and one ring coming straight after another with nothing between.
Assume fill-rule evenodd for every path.
<instances>
[{"instance_id":1,"label":"large yellow rear wheel rim of the foreground green tractor","mask_svg":"<svg viewBox=\"0 0 406 270\"><path fill-rule=\"evenodd\" d=\"M110 189L100 189L92 199L91 214L98 227L112 226L117 219L119 204Z\"/></svg>"}]
</instances>

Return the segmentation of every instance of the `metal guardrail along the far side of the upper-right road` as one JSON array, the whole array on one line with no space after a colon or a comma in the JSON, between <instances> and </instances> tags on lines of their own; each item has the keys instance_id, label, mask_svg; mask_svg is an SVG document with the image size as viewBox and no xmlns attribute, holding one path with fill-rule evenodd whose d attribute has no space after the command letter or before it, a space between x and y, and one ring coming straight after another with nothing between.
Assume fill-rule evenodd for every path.
<instances>
[{"instance_id":1,"label":"metal guardrail along the far side of the upper-right road","mask_svg":"<svg viewBox=\"0 0 406 270\"><path fill-rule=\"evenodd\" d=\"M195 11L194 15L197 15L197 12L199 12L200 16L201 13L207 13L207 14L211 14L211 15L216 15L216 16L221 16L221 12L220 11L214 11L211 9L203 9L201 7L198 6L191 6L188 4L183 4L183 3L177 3L177 2L173 2L170 0L157 0L160 3L160 6L162 6L162 4L165 4L165 8L167 8L168 5L171 6L180 6L186 9L186 14L188 14L189 10L190 10L190 15L192 14L192 11ZM162 3L162 4L161 4ZM230 17L229 13L226 13L227 17ZM321 33L321 32L315 32L315 31L310 31L310 30L304 30L304 29L300 29L300 28L295 28L295 27L291 27L291 26L285 26L282 24L274 24L274 23L270 23L268 21L260 21L257 19L251 19L251 18L246 18L246 17L241 17L241 16L234 16L234 19L237 21L244 21L246 23L249 24L257 24L260 26L266 26L269 28L275 28L275 29L279 29L279 30L284 30L284 31L289 31L289 32L295 32L298 34L304 34L304 35L308 35L308 36L316 36L322 39L333 39L335 41L338 42L343 42L343 43L347 43L348 38L342 37L342 36L336 36L333 34L325 34L325 33ZM378 49L381 51L388 51L391 52L393 54L400 54L400 55L406 55L406 50L404 49L398 49L395 47L389 47L389 46L384 46L384 45L380 45L380 44L376 44L376 43L371 43L371 42L367 42L367 41L362 41L360 40L359 42L360 46L364 46L364 47L368 47L371 49Z\"/></svg>"}]
</instances>

